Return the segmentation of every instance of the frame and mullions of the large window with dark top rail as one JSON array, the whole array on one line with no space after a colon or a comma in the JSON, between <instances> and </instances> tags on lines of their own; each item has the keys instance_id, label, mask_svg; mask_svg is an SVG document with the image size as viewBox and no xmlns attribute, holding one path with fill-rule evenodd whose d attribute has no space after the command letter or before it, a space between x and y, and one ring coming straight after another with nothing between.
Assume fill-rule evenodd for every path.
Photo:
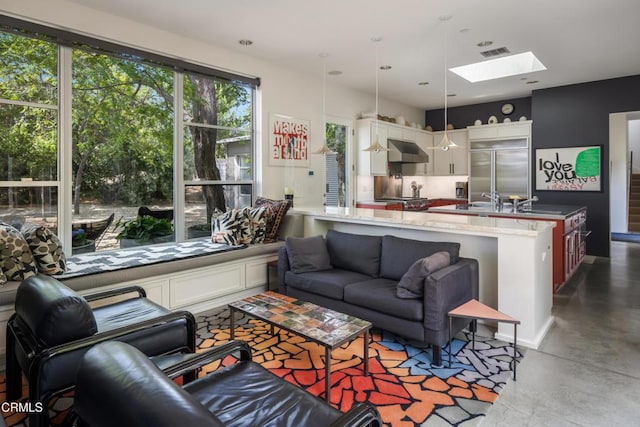
<instances>
[{"instance_id":1,"label":"frame and mullions of the large window with dark top rail","mask_svg":"<svg viewBox=\"0 0 640 427\"><path fill-rule=\"evenodd\" d=\"M72 164L72 51L73 49L93 50L100 54L109 54L116 57L138 60L150 63L155 66L169 67L173 70L174 75L174 162L173 162L173 207L174 207L174 229L176 241L186 240L186 224L185 224L185 190L188 186L193 185L250 185L251 200L255 199L255 192L258 186L256 167L257 163L257 144L256 144L256 118L258 99L257 92L260 86L258 77L232 73L226 70L217 69L211 66L205 66L197 63L191 63L179 59L177 57L160 55L136 49L124 44L108 42L94 37L89 37L70 31L36 24L29 21L23 21L17 18L0 15L0 31L10 32L22 37L35 37L57 44L58 51L58 99L55 106L49 104L38 105L38 107L54 108L58 111L58 141L57 141L57 180L55 181L34 181L22 182L0 181L0 187L16 186L16 187L57 187L58 192L58 234L64 247L71 247L71 224L72 212L70 208L73 202L73 164ZM184 180L184 126L202 126L202 124L193 124L184 121L182 115L183 109L183 78L186 74L195 73L210 77L217 80L229 82L231 84L239 84L250 88L251 90L251 126L245 128L230 128L227 126L212 126L219 129L237 130L248 133L250 135L251 156L254 167L251 170L250 180L237 181L185 181ZM9 101L9 100L8 100ZM1 101L0 101L1 102ZM9 102L7 102L9 103ZM23 105L28 103L25 101L13 101L11 103ZM39 103L35 103L39 104ZM205 125L211 126L211 125Z\"/></svg>"}]
</instances>

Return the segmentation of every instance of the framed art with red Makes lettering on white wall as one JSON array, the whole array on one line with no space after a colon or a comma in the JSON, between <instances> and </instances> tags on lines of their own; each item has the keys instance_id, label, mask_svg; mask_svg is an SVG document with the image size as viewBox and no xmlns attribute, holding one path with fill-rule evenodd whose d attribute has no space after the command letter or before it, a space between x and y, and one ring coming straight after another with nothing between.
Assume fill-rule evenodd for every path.
<instances>
[{"instance_id":1,"label":"framed art with red Makes lettering on white wall","mask_svg":"<svg viewBox=\"0 0 640 427\"><path fill-rule=\"evenodd\" d=\"M309 166L309 120L269 114L269 164Z\"/></svg>"}]
</instances>

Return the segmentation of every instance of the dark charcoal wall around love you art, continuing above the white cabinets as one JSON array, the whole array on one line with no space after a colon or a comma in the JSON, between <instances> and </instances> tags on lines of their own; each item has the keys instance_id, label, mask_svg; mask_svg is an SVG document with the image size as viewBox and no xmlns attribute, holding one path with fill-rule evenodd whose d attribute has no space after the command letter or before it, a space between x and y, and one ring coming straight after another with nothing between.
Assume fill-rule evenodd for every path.
<instances>
[{"instance_id":1,"label":"dark charcoal wall around love you art, continuing above the white cabinets","mask_svg":"<svg viewBox=\"0 0 640 427\"><path fill-rule=\"evenodd\" d=\"M454 107L448 109L449 122L456 129L473 125L476 119L486 124L491 115L502 122L500 107L505 102L515 106L510 115L512 121L522 115L533 120L533 159L537 148L603 147L601 192L535 191L534 170L530 173L532 192L542 203L587 207L587 229L591 230L587 253L609 257L609 114L640 111L640 76L541 89L534 91L530 98ZM426 123L434 130L442 130L443 110L427 111Z\"/></svg>"}]
</instances>

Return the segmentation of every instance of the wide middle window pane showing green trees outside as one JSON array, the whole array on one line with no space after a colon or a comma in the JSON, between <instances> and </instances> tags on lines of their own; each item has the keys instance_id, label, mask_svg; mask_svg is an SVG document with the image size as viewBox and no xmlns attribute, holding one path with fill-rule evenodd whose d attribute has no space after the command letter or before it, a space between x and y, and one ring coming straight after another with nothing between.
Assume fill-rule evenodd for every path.
<instances>
[{"instance_id":1,"label":"wide middle window pane showing green trees outside","mask_svg":"<svg viewBox=\"0 0 640 427\"><path fill-rule=\"evenodd\" d=\"M173 71L87 49L71 66L73 222L173 209ZM73 228L73 246L93 248ZM107 231L93 236L98 250L119 246Z\"/></svg>"}]
</instances>

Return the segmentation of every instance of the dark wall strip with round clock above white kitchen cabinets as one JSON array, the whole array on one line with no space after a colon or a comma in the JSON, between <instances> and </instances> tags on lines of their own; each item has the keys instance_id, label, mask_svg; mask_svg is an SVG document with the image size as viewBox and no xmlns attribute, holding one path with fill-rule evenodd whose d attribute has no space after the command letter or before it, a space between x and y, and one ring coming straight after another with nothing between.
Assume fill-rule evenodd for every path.
<instances>
[{"instance_id":1,"label":"dark wall strip with round clock above white kitchen cabinets","mask_svg":"<svg viewBox=\"0 0 640 427\"><path fill-rule=\"evenodd\" d=\"M501 107L506 103L511 103L514 107L513 113L508 116L505 116L500 111ZM496 116L500 123L507 117L513 122L517 121L521 116L531 119L531 97L447 108L447 121L456 129L473 126L476 120L482 120L482 124L486 125L491 116ZM425 113L425 123L431 125L434 131L444 130L444 109L427 111Z\"/></svg>"}]
</instances>

